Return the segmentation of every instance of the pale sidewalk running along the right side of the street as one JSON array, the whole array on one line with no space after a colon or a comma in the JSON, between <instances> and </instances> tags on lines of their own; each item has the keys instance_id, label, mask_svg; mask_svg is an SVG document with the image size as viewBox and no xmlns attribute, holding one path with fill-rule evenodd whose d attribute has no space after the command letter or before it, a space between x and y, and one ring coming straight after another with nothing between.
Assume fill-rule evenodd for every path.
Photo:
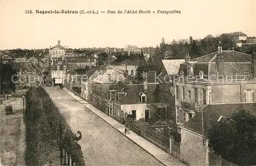
<instances>
[{"instance_id":1,"label":"pale sidewalk running along the right side of the street","mask_svg":"<svg viewBox=\"0 0 256 166\"><path fill-rule=\"evenodd\" d=\"M110 116L106 115L105 113L101 112L91 104L89 104L87 101L82 100L79 96L75 96L73 92L68 90L67 88L63 88L65 92L67 92L69 95L71 95L73 98L75 98L78 102L85 104L85 106L90 109L94 114L99 116L101 119L109 123L112 127L117 129L119 132L124 134L126 137L128 137L131 141L133 141L135 144L140 146L142 149L150 153L152 156L154 156L158 161L163 163L164 165L185 165L177 158L169 155L168 153L164 152L154 144L148 142L147 140L143 139L133 131L130 132L130 134L124 133L124 124L120 124Z\"/></svg>"}]
</instances>

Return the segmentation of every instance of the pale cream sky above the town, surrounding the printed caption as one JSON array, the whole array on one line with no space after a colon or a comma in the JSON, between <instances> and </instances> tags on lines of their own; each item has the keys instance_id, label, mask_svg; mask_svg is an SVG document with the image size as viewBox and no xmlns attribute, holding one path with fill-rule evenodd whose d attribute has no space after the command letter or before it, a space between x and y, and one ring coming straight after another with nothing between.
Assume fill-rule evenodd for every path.
<instances>
[{"instance_id":1,"label":"pale cream sky above the town, surrounding the printed caption","mask_svg":"<svg viewBox=\"0 0 256 166\"><path fill-rule=\"evenodd\" d=\"M33 14L26 14L32 10ZM98 14L36 14L36 10L95 10ZM101 13L108 10L116 14ZM151 14L117 14L150 10ZM158 10L181 11L161 14ZM0 0L0 49L147 47L165 42L242 31L256 35L255 0ZM155 11L155 13L153 13Z\"/></svg>"}]
</instances>

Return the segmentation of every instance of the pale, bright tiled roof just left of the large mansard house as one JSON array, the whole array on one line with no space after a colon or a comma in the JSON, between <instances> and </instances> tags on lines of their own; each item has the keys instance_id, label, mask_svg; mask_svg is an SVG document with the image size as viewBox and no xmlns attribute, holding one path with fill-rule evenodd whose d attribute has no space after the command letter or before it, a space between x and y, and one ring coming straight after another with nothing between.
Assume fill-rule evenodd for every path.
<instances>
[{"instance_id":1,"label":"pale, bright tiled roof just left of the large mansard house","mask_svg":"<svg viewBox=\"0 0 256 166\"><path fill-rule=\"evenodd\" d=\"M185 62L185 60L162 60L162 63L168 75L177 75L180 64L183 62Z\"/></svg>"}]
</instances>

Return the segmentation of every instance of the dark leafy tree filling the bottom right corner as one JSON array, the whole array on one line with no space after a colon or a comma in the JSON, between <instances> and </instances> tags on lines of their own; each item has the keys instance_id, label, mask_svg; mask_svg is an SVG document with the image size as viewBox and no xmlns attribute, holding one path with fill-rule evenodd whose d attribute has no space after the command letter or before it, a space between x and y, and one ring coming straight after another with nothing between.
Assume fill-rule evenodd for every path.
<instances>
[{"instance_id":1,"label":"dark leafy tree filling the bottom right corner","mask_svg":"<svg viewBox=\"0 0 256 166\"><path fill-rule=\"evenodd\" d=\"M256 116L239 109L225 122L213 122L209 147L217 155L239 165L256 164Z\"/></svg>"}]
</instances>

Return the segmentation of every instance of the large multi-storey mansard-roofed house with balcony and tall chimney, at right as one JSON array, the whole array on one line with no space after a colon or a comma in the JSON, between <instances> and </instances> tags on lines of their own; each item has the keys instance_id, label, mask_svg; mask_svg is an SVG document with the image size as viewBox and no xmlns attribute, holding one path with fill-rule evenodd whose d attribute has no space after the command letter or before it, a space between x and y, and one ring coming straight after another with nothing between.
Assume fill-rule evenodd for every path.
<instances>
[{"instance_id":1,"label":"large multi-storey mansard-roofed house with balcony and tall chimney, at right","mask_svg":"<svg viewBox=\"0 0 256 166\"><path fill-rule=\"evenodd\" d=\"M255 102L255 58L237 51L217 52L180 65L175 79L176 123L184 124L209 104Z\"/></svg>"}]
</instances>

